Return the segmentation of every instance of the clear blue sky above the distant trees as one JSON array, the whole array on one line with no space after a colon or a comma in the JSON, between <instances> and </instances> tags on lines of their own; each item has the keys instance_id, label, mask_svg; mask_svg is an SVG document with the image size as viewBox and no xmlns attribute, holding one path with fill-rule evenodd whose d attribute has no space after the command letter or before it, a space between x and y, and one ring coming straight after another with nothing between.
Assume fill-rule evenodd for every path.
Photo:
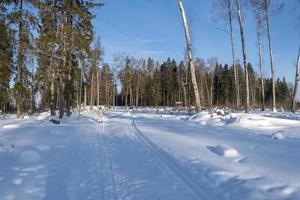
<instances>
[{"instance_id":1,"label":"clear blue sky above the distant trees","mask_svg":"<svg viewBox=\"0 0 300 200\"><path fill-rule=\"evenodd\" d=\"M280 0L273 0L279 2ZM113 54L124 52L136 58L152 57L162 62L168 57L183 59L185 38L177 0L102 0L105 6L94 10L96 35L101 37L104 62L111 63ZM212 0L184 0L191 22L194 56L207 59L216 56L220 63L231 62L229 35L213 25ZM272 42L276 75L292 82L300 27L296 0L281 0L284 9L271 17ZM298 5L299 6L299 5ZM245 35L248 60L257 69L256 24L250 8L245 14ZM237 21L234 35L237 58L241 59ZM266 32L263 33L264 73L270 75Z\"/></svg>"}]
</instances>

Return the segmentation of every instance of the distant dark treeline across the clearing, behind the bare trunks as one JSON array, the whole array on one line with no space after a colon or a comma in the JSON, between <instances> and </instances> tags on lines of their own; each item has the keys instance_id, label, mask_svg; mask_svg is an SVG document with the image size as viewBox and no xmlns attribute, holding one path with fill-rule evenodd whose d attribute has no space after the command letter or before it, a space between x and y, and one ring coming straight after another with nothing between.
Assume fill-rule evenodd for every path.
<instances>
[{"instance_id":1,"label":"distant dark treeline across the clearing, behind the bare trunks","mask_svg":"<svg viewBox=\"0 0 300 200\"><path fill-rule=\"evenodd\" d=\"M124 69L119 72L121 93L119 105L124 106L180 106L195 105L189 68L184 62L176 63L167 59L162 64L149 58L137 61L134 58L123 58ZM235 108L234 68L228 64L218 64L216 58L207 61L195 58L196 79L202 105L206 108ZM238 80L240 87L245 86L244 71L239 63ZM260 78L248 64L250 105L259 108L261 104ZM272 103L272 80L264 79L265 100L268 106ZM292 85L283 77L276 80L276 97L278 106L288 108L291 103ZM240 92L241 104L245 103L245 91Z\"/></svg>"}]
</instances>

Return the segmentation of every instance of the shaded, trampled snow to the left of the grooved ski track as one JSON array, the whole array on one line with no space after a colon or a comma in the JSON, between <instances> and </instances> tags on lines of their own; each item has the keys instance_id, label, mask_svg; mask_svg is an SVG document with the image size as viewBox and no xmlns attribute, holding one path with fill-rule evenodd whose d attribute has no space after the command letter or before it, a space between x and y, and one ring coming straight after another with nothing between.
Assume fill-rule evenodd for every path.
<instances>
[{"instance_id":1,"label":"shaded, trampled snow to the left of the grooved ski track","mask_svg":"<svg viewBox=\"0 0 300 200\"><path fill-rule=\"evenodd\" d=\"M198 199L133 130L120 117L0 129L0 199Z\"/></svg>"}]
</instances>

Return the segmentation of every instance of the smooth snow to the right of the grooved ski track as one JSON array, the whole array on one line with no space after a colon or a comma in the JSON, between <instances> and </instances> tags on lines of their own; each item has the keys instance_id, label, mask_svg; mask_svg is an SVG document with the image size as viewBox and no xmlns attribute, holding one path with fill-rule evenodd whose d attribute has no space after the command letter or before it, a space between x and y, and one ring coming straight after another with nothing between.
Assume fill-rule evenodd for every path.
<instances>
[{"instance_id":1,"label":"smooth snow to the right of the grooved ski track","mask_svg":"<svg viewBox=\"0 0 300 200\"><path fill-rule=\"evenodd\" d=\"M148 140L181 163L214 199L300 198L298 138L277 141L249 128L199 126L142 114L135 118ZM218 155L213 149L220 144L239 155Z\"/></svg>"}]
</instances>

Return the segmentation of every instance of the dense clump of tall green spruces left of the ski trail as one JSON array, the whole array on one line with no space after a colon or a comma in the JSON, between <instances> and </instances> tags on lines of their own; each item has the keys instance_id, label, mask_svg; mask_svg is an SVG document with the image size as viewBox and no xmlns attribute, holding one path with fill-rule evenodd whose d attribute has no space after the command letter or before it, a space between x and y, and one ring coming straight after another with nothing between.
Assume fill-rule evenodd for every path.
<instances>
[{"instance_id":1,"label":"dense clump of tall green spruces left of the ski trail","mask_svg":"<svg viewBox=\"0 0 300 200\"><path fill-rule=\"evenodd\" d=\"M48 87L51 95L46 101L50 102L52 115L55 114L55 94L60 118L65 110L70 116L75 100L81 101L78 101L81 96L78 94L81 91L79 63L83 66L91 57L90 44L94 35L91 9L102 5L89 0L49 0L39 5L39 74L51 85Z\"/></svg>"}]
</instances>

